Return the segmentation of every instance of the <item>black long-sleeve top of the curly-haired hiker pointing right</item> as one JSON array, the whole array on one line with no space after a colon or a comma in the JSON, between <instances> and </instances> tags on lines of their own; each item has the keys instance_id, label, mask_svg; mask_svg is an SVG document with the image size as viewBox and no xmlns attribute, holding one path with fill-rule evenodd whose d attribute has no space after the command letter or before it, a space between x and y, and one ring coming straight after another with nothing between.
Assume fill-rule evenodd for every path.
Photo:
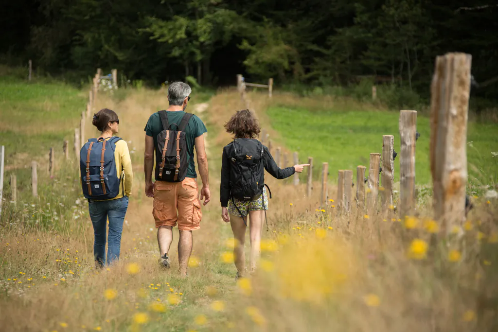
<instances>
[{"instance_id":1,"label":"black long-sleeve top of the curly-haired hiker pointing right","mask_svg":"<svg viewBox=\"0 0 498 332\"><path fill-rule=\"evenodd\" d=\"M228 206L228 201L230 200L230 159L229 155L231 155L232 150L234 149L232 143L228 144L223 148L223 159L221 164L221 184L220 184L220 202L222 207ZM281 169L273 160L268 148L263 145L263 160L264 160L264 169L271 176L276 179L285 179L289 176L293 175L296 172L294 166L287 167Z\"/></svg>"}]
</instances>

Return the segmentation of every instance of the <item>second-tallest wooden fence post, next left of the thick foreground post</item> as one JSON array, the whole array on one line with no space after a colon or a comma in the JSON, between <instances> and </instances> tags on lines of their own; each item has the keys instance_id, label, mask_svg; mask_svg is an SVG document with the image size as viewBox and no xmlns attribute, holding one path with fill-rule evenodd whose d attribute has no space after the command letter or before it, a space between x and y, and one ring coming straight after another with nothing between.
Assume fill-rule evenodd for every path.
<instances>
[{"instance_id":1,"label":"second-tallest wooden fence post, next left of the thick foreground post","mask_svg":"<svg viewBox=\"0 0 498 332\"><path fill-rule=\"evenodd\" d=\"M401 151L399 157L399 211L405 217L415 209L415 141L417 132L417 111L400 111L399 136ZM465 207L465 202L462 204Z\"/></svg>"}]
</instances>

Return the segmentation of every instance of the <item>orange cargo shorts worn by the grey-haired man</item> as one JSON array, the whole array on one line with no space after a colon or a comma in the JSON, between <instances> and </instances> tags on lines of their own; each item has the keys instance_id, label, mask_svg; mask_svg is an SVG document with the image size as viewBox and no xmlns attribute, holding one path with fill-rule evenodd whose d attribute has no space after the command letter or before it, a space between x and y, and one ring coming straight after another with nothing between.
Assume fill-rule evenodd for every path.
<instances>
[{"instance_id":1,"label":"orange cargo shorts worn by the grey-haired man","mask_svg":"<svg viewBox=\"0 0 498 332\"><path fill-rule=\"evenodd\" d=\"M152 215L156 228L174 227L178 222L178 230L199 229L202 211L196 179L185 178L182 182L154 182Z\"/></svg>"}]
</instances>

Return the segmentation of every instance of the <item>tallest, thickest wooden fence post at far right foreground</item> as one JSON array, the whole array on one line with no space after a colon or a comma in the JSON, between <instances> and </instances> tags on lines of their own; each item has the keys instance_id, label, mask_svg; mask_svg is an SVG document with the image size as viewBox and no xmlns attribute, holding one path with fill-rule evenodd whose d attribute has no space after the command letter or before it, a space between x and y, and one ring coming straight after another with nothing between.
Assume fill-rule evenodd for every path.
<instances>
[{"instance_id":1,"label":"tallest, thickest wooden fence post at far right foreground","mask_svg":"<svg viewBox=\"0 0 498 332\"><path fill-rule=\"evenodd\" d=\"M471 55L447 53L436 58L432 77L430 168L443 233L465 220L471 65Z\"/></svg>"}]
</instances>

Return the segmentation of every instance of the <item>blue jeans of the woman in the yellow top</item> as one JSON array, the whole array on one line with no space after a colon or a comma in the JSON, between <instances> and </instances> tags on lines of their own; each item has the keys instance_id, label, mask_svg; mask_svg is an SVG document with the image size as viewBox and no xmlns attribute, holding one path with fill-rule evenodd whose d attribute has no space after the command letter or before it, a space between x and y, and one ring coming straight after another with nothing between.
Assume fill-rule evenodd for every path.
<instances>
[{"instance_id":1,"label":"blue jeans of the woman in the yellow top","mask_svg":"<svg viewBox=\"0 0 498 332\"><path fill-rule=\"evenodd\" d=\"M94 226L94 257L98 266L106 264L106 233L109 218L109 236L107 237L107 265L120 258L121 233L124 216L128 208L128 197L111 201L88 200L88 211Z\"/></svg>"}]
</instances>

